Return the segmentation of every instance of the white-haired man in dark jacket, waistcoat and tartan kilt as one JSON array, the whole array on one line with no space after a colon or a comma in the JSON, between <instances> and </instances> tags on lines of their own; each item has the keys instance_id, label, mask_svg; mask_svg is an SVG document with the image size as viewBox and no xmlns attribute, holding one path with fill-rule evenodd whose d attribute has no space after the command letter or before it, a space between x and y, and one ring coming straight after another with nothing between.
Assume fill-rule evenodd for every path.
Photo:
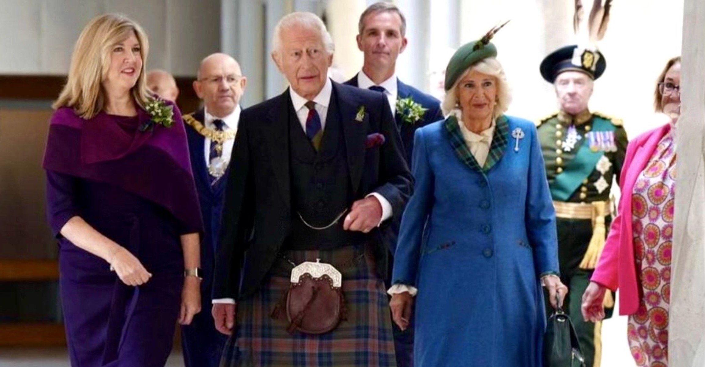
<instances>
[{"instance_id":1,"label":"white-haired man in dark jacket, waistcoat and tartan kilt","mask_svg":"<svg viewBox=\"0 0 705 367\"><path fill-rule=\"evenodd\" d=\"M383 237L412 178L388 101L326 77L333 42L312 13L279 21L272 58L290 87L243 111L228 173L212 310L231 335L221 363L393 366ZM300 331L286 301L292 269L318 259L342 274L346 316L322 334Z\"/></svg>"}]
</instances>

